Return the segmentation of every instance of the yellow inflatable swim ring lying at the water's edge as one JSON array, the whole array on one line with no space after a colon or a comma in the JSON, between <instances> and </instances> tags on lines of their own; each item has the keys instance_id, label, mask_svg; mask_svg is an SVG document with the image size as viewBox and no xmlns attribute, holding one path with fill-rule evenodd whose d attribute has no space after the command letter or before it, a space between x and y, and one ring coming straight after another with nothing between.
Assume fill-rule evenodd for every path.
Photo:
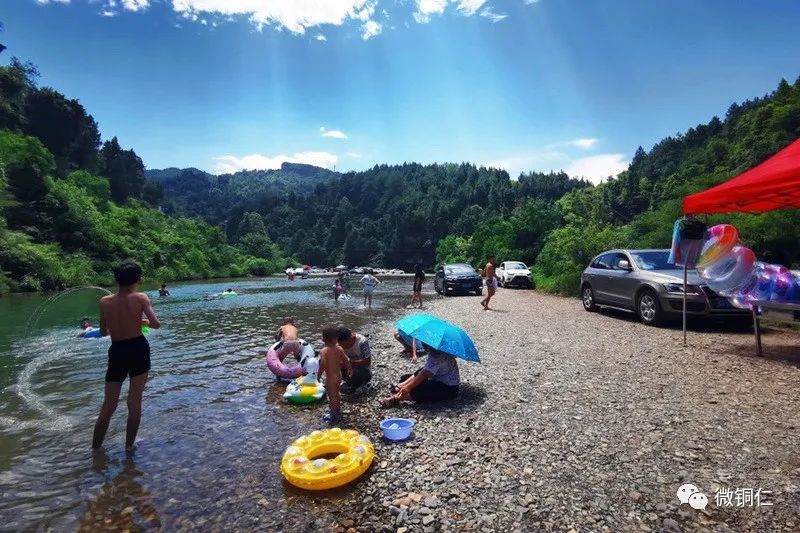
<instances>
[{"instance_id":1,"label":"yellow inflatable swim ring lying at the water's edge","mask_svg":"<svg viewBox=\"0 0 800 533\"><path fill-rule=\"evenodd\" d=\"M333 459L320 456L338 454ZM281 459L286 481L306 490L341 487L360 477L375 458L369 438L353 429L312 431L295 440Z\"/></svg>"}]
</instances>

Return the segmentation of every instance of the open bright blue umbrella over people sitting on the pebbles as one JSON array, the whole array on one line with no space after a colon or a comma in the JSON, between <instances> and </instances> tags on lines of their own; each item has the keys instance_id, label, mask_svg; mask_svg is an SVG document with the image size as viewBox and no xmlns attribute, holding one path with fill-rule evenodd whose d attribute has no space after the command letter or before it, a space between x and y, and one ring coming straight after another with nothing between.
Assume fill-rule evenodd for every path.
<instances>
[{"instance_id":1,"label":"open bright blue umbrella over people sitting on the pebbles","mask_svg":"<svg viewBox=\"0 0 800 533\"><path fill-rule=\"evenodd\" d=\"M467 332L450 322L435 316L418 313L409 315L395 322L398 330L406 335L465 361L477 361L478 350Z\"/></svg>"}]
</instances>

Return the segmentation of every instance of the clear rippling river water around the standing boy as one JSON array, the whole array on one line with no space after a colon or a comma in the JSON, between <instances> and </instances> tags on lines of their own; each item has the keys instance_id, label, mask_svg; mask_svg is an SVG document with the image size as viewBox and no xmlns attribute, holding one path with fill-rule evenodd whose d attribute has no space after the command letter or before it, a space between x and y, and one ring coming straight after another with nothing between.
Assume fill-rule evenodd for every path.
<instances>
[{"instance_id":1,"label":"clear rippling river water around the standing boy","mask_svg":"<svg viewBox=\"0 0 800 533\"><path fill-rule=\"evenodd\" d=\"M127 384L104 451L90 451L110 341L76 335L102 293L75 291L44 307L43 295L0 298L0 529L279 524L270 513L296 496L278 472L280 455L322 426L325 405L285 404L285 386L258 352L281 316L294 316L301 337L319 345L323 326L361 328L410 295L410 280L389 280L367 310L358 290L334 302L331 283L189 283L171 286L168 298L151 291L162 328L148 336L153 369L133 456L124 452ZM228 287L239 296L219 297Z\"/></svg>"}]
</instances>

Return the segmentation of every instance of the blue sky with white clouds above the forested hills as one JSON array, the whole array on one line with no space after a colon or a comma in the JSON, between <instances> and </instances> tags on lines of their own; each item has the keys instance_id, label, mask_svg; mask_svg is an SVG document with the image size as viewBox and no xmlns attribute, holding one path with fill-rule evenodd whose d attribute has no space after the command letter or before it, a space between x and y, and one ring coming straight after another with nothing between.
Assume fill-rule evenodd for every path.
<instances>
[{"instance_id":1,"label":"blue sky with white clouds above the forested hills","mask_svg":"<svg viewBox=\"0 0 800 533\"><path fill-rule=\"evenodd\" d=\"M2 0L148 168L472 162L599 181L800 75L796 0Z\"/></svg>"}]
</instances>

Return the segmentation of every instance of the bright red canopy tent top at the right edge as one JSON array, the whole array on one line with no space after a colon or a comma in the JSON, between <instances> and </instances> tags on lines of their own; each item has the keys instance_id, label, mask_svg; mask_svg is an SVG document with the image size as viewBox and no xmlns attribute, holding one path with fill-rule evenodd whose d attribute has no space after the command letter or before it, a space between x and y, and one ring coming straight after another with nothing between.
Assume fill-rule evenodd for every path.
<instances>
[{"instance_id":1,"label":"bright red canopy tent top at the right edge","mask_svg":"<svg viewBox=\"0 0 800 533\"><path fill-rule=\"evenodd\" d=\"M800 139L725 183L683 199L683 213L800 208Z\"/></svg>"}]
</instances>

